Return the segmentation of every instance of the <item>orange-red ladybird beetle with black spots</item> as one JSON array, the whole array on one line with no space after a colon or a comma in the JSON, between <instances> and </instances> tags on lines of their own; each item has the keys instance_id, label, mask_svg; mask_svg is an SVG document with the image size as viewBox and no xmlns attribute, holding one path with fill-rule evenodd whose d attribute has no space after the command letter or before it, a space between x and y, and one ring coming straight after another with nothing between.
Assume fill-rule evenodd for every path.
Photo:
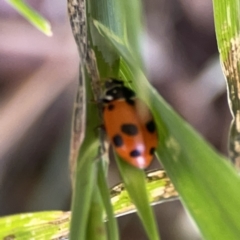
<instances>
[{"instance_id":1,"label":"orange-red ladybird beetle with black spots","mask_svg":"<svg viewBox=\"0 0 240 240\"><path fill-rule=\"evenodd\" d=\"M115 151L131 165L144 169L158 144L155 122L147 105L123 81L105 83L103 120Z\"/></svg>"}]
</instances>

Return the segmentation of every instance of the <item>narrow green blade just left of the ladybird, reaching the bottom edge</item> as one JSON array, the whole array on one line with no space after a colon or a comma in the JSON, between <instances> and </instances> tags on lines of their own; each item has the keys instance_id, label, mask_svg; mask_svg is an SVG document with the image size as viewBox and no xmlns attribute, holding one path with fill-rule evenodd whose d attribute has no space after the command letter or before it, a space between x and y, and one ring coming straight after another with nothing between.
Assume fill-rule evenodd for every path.
<instances>
[{"instance_id":1,"label":"narrow green blade just left of the ladybird, reaching the bottom edge","mask_svg":"<svg viewBox=\"0 0 240 240\"><path fill-rule=\"evenodd\" d=\"M87 119L85 139L79 151L75 170L75 185L72 197L72 219L70 227L71 240L86 239L90 204L93 189L96 185L96 161L99 153L99 139L97 127L100 125L97 105L90 90L90 81L86 81ZM93 215L91 215L93 216Z\"/></svg>"}]
</instances>

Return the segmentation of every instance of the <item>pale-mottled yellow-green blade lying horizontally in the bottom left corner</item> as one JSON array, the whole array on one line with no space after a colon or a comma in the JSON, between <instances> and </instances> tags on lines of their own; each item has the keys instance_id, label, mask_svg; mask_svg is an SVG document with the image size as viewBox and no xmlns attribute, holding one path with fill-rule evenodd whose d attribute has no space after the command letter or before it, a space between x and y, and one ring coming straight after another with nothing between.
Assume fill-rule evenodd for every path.
<instances>
[{"instance_id":1,"label":"pale-mottled yellow-green blade lying horizontally in the bottom left corner","mask_svg":"<svg viewBox=\"0 0 240 240\"><path fill-rule=\"evenodd\" d=\"M0 239L49 240L68 236L70 212L23 213L0 218Z\"/></svg>"}]
</instances>

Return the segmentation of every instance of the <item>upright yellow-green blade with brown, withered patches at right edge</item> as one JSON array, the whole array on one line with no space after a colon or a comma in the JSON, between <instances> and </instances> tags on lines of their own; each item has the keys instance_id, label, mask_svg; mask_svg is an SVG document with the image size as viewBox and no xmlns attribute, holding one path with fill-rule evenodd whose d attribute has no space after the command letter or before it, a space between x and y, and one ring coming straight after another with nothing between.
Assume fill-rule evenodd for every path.
<instances>
[{"instance_id":1,"label":"upright yellow-green blade with brown, withered patches at right edge","mask_svg":"<svg viewBox=\"0 0 240 240\"><path fill-rule=\"evenodd\" d=\"M213 9L220 61L227 80L229 107L233 116L229 156L240 171L240 3L238 0L214 0Z\"/></svg>"}]
</instances>

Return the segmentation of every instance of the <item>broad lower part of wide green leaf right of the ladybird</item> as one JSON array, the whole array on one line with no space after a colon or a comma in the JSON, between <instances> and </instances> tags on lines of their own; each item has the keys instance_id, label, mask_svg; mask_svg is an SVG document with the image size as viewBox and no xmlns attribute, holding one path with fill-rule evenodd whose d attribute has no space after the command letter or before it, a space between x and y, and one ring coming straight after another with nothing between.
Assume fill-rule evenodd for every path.
<instances>
[{"instance_id":1,"label":"broad lower part of wide green leaf right of the ladybird","mask_svg":"<svg viewBox=\"0 0 240 240\"><path fill-rule=\"evenodd\" d=\"M206 239L237 239L240 179L235 169L155 97L154 112L165 128L162 132L159 126L157 152L184 205Z\"/></svg>"}]
</instances>

